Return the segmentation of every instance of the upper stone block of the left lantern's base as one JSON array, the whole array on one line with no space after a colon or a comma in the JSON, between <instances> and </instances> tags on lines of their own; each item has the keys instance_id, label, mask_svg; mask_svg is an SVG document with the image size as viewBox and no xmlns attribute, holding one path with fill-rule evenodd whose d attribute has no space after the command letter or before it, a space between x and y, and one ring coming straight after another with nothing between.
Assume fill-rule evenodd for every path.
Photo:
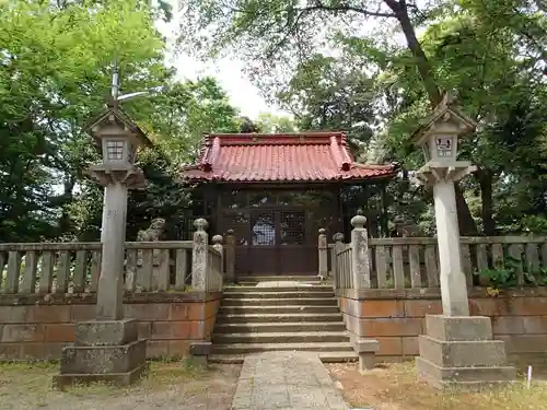
<instances>
[{"instance_id":1,"label":"upper stone block of the left lantern's base","mask_svg":"<svg viewBox=\"0 0 547 410\"><path fill-rule=\"evenodd\" d=\"M90 320L75 325L75 345L120 345L136 341L139 320Z\"/></svg>"}]
</instances>

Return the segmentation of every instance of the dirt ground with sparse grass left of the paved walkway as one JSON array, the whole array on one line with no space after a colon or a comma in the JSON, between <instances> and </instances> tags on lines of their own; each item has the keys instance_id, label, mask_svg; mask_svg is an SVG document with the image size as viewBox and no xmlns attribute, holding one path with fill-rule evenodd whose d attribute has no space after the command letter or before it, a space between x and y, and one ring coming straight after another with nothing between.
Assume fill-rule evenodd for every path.
<instances>
[{"instance_id":1,"label":"dirt ground with sparse grass left of the paved walkway","mask_svg":"<svg viewBox=\"0 0 547 410\"><path fill-rule=\"evenodd\" d=\"M108 385L51 389L55 364L0 364L0 410L229 410L241 365L152 363L129 388Z\"/></svg>"}]
</instances>

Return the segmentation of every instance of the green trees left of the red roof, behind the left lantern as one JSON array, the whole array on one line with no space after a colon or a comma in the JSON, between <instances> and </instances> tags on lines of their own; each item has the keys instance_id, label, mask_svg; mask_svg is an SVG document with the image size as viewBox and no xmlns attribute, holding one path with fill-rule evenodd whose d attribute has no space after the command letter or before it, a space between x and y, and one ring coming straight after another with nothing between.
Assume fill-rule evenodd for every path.
<instances>
[{"instance_id":1,"label":"green trees left of the red roof, behind the left lantern","mask_svg":"<svg viewBox=\"0 0 547 410\"><path fill-rule=\"evenodd\" d=\"M149 190L130 194L128 236L187 206L178 166L202 132L235 131L237 113L212 79L174 81L154 28L170 13L148 0L0 4L0 242L98 237L102 189L83 176L97 153L82 126L110 93L114 60L123 93L164 89L124 103L158 145L140 157Z\"/></svg>"}]
</instances>

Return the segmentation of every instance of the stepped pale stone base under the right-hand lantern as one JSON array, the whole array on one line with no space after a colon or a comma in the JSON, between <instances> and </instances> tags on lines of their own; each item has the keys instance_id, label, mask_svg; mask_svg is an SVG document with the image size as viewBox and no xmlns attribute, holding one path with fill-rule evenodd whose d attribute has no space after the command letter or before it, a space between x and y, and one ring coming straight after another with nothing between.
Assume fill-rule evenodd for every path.
<instances>
[{"instance_id":1,"label":"stepped pale stone base under the right-hand lantern","mask_svg":"<svg viewBox=\"0 0 547 410\"><path fill-rule=\"evenodd\" d=\"M480 388L516 379L508 366L505 343L492 340L488 317L426 317L426 336L420 336L418 374L431 385Z\"/></svg>"}]
</instances>

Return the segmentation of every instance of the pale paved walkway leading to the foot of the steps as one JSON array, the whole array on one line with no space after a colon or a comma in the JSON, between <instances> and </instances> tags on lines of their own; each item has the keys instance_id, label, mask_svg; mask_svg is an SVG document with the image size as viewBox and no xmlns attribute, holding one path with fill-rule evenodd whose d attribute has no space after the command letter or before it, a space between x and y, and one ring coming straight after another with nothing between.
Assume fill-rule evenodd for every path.
<instances>
[{"instance_id":1,"label":"pale paved walkway leading to the foot of the steps","mask_svg":"<svg viewBox=\"0 0 547 410\"><path fill-rule=\"evenodd\" d=\"M317 353L265 352L245 358L232 410L349 410Z\"/></svg>"}]
</instances>

